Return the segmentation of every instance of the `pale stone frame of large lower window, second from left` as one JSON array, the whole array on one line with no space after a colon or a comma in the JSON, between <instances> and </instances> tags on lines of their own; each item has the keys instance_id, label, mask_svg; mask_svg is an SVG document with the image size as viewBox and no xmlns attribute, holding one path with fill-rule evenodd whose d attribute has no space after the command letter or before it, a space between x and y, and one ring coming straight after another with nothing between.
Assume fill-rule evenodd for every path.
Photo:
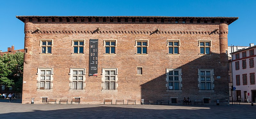
<instances>
[{"instance_id":1,"label":"pale stone frame of large lower window, second from left","mask_svg":"<svg viewBox=\"0 0 256 119\"><path fill-rule=\"evenodd\" d=\"M83 71L83 80L82 81L80 81L80 82L83 82L83 88L82 89L73 89L73 71ZM70 70L69 70L69 74L68 75L70 75L70 77L69 77L69 90L84 90L85 89L85 80L86 80L86 78L85 78L85 71L86 71L86 69L85 68L70 68ZM77 72L77 76L78 76L78 72ZM78 87L78 79L77 79L77 87Z\"/></svg>"}]
</instances>

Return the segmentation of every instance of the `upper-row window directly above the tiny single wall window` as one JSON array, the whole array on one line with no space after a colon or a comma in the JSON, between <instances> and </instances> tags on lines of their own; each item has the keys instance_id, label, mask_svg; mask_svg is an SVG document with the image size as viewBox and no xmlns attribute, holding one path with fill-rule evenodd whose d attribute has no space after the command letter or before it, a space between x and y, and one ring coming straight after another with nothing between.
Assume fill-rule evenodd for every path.
<instances>
[{"instance_id":1,"label":"upper-row window directly above the tiny single wall window","mask_svg":"<svg viewBox=\"0 0 256 119\"><path fill-rule=\"evenodd\" d=\"M148 40L136 40L137 54L148 54Z\"/></svg>"}]
</instances>

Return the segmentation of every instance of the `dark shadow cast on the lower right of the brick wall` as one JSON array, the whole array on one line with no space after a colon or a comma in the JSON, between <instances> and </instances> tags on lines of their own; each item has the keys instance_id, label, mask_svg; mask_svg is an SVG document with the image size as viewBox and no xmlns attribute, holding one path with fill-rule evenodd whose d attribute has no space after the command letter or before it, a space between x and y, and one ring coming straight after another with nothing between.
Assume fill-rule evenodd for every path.
<instances>
[{"instance_id":1,"label":"dark shadow cast on the lower right of the brick wall","mask_svg":"<svg viewBox=\"0 0 256 119\"><path fill-rule=\"evenodd\" d=\"M192 104L194 104L194 100L204 101L204 99L207 99L209 104L216 104L216 99L219 99L220 103L228 104L228 57L225 54L222 55L226 56L227 60L220 60L219 53L211 53L209 55L198 54L196 57L186 57L185 59L184 56L173 56L176 57L176 61L171 62L175 62L176 64L169 63L169 66L166 68L181 68L181 90L168 89L166 73L140 85L141 99L144 99L145 104L149 104L149 100L159 100L158 104L160 104L160 100L170 100L171 104L182 104L184 97L189 97ZM180 58L183 58L182 60L190 61L179 66L177 63L181 62ZM213 69L213 90L200 91L198 69ZM201 105L201 103L198 105Z\"/></svg>"}]
</instances>

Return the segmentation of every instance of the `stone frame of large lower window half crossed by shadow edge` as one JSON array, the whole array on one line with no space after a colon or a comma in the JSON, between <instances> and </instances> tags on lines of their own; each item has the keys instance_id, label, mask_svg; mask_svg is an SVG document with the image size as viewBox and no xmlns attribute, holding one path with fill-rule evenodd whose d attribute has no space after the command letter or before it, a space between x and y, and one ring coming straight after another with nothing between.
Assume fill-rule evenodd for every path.
<instances>
[{"instance_id":1,"label":"stone frame of large lower window half crossed by shadow edge","mask_svg":"<svg viewBox=\"0 0 256 119\"><path fill-rule=\"evenodd\" d=\"M179 81L174 81L174 79L173 79L173 81L169 81L169 71L179 71ZM166 91L167 92L181 92L182 91L182 78L181 78L182 72L181 72L181 68L166 68L166 74L165 75L166 75L166 79L165 79L166 80ZM172 76L174 76L174 74ZM169 90L169 87L168 87L169 82L179 82L179 84L180 84L179 90Z\"/></svg>"}]
</instances>

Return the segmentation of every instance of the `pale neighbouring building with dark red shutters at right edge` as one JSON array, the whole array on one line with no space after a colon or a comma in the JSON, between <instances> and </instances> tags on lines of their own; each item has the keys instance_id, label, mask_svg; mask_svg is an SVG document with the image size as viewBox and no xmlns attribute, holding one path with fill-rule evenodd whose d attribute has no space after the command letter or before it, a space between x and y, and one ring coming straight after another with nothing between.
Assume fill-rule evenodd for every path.
<instances>
[{"instance_id":1,"label":"pale neighbouring building with dark red shutters at right edge","mask_svg":"<svg viewBox=\"0 0 256 119\"><path fill-rule=\"evenodd\" d=\"M256 86L254 67L256 46L250 44L250 47L231 53L232 55L232 77L233 87L236 87L235 100L241 96L243 101L255 101Z\"/></svg>"}]
</instances>

